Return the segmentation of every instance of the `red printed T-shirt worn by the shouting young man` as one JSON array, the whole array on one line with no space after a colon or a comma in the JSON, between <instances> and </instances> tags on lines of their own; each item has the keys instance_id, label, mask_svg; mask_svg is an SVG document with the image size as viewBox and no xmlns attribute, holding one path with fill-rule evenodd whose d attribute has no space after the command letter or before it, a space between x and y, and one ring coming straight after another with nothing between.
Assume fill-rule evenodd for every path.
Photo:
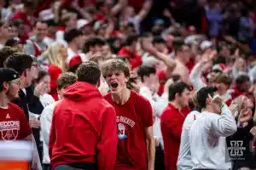
<instances>
[{"instance_id":1,"label":"red printed T-shirt worn by the shouting young man","mask_svg":"<svg viewBox=\"0 0 256 170\"><path fill-rule=\"evenodd\" d=\"M111 94L107 94L105 99L113 105L117 116L119 143L115 169L147 170L148 154L144 132L146 127L153 126L149 101L133 91L124 105L115 103Z\"/></svg>"}]
</instances>

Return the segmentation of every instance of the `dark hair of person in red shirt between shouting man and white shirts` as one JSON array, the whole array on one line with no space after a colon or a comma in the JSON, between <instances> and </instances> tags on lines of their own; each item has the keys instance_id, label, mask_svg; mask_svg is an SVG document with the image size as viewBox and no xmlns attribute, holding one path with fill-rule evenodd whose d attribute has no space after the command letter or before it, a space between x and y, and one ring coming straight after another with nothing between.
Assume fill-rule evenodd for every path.
<instances>
[{"instance_id":1,"label":"dark hair of person in red shirt between shouting man and white shirts","mask_svg":"<svg viewBox=\"0 0 256 170\"><path fill-rule=\"evenodd\" d=\"M175 99L175 95L181 95L185 89L190 90L190 87L185 82L175 82L169 86L169 101L173 101Z\"/></svg>"}]
</instances>

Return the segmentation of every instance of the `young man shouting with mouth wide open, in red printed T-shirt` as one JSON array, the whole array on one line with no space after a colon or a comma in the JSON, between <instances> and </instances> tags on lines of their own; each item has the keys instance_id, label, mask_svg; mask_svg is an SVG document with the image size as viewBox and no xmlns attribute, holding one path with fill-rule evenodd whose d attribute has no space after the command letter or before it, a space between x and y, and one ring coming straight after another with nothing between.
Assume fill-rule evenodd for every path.
<instances>
[{"instance_id":1,"label":"young man shouting with mouth wide open, in red printed T-shirt","mask_svg":"<svg viewBox=\"0 0 256 170\"><path fill-rule=\"evenodd\" d=\"M108 59L102 74L111 91L105 99L116 111L119 143L115 169L154 170L152 106L126 87L130 70L122 60Z\"/></svg>"}]
</instances>

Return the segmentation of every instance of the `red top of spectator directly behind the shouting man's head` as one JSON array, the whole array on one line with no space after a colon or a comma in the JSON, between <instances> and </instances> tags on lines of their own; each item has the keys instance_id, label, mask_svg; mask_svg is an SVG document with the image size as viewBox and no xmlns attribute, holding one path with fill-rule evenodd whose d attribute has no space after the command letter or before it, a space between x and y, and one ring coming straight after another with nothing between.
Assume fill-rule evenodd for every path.
<instances>
[{"instance_id":1,"label":"red top of spectator directly behind the shouting man's head","mask_svg":"<svg viewBox=\"0 0 256 170\"><path fill-rule=\"evenodd\" d=\"M128 57L131 69L137 68L143 64L142 57L136 53L130 52L127 48L121 48L118 55L125 55Z\"/></svg>"}]
</instances>

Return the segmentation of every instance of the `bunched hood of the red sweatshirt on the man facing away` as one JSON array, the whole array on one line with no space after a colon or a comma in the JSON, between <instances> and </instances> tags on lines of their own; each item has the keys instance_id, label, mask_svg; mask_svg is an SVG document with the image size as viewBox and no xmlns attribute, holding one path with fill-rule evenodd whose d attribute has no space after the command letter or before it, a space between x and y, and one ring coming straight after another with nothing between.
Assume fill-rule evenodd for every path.
<instances>
[{"instance_id":1,"label":"bunched hood of the red sweatshirt on the man facing away","mask_svg":"<svg viewBox=\"0 0 256 170\"><path fill-rule=\"evenodd\" d=\"M81 101L84 99L102 98L102 94L95 86L88 82L75 82L65 89L64 98Z\"/></svg>"}]
</instances>

